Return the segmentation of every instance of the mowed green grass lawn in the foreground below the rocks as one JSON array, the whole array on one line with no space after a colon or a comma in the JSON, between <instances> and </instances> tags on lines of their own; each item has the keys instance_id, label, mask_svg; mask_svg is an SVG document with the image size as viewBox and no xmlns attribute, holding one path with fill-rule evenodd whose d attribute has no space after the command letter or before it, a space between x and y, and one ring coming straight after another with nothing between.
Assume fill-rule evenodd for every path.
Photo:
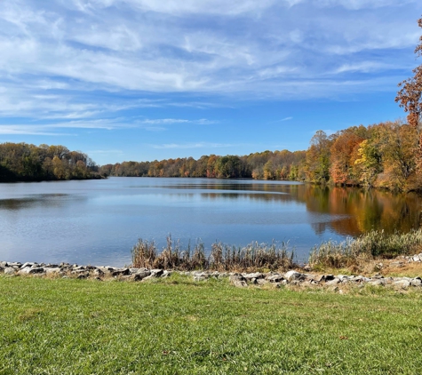
<instances>
[{"instance_id":1,"label":"mowed green grass lawn in the foreground below the rocks","mask_svg":"<svg viewBox=\"0 0 422 375\"><path fill-rule=\"evenodd\" d=\"M422 292L0 277L1 374L417 374Z\"/></svg>"}]
</instances>

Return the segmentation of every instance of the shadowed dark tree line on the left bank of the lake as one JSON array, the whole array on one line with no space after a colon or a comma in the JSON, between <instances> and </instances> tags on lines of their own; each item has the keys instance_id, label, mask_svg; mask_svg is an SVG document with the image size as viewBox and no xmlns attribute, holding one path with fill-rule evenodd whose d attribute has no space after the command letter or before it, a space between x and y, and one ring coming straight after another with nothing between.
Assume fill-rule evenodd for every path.
<instances>
[{"instance_id":1,"label":"shadowed dark tree line on the left bank of the lake","mask_svg":"<svg viewBox=\"0 0 422 375\"><path fill-rule=\"evenodd\" d=\"M0 182L97 178L98 166L80 151L60 145L0 144Z\"/></svg>"}]
</instances>

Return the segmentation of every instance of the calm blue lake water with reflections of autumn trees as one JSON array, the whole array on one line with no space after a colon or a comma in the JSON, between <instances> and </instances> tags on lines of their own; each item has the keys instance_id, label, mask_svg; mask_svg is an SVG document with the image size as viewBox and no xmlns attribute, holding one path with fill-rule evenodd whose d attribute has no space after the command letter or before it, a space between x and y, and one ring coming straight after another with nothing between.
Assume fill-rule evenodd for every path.
<instances>
[{"instance_id":1,"label":"calm blue lake water with reflections of autumn trees","mask_svg":"<svg viewBox=\"0 0 422 375\"><path fill-rule=\"evenodd\" d=\"M289 241L299 260L324 240L420 225L422 199L295 182L207 179L0 184L0 259L123 266L138 238Z\"/></svg>"}]
</instances>

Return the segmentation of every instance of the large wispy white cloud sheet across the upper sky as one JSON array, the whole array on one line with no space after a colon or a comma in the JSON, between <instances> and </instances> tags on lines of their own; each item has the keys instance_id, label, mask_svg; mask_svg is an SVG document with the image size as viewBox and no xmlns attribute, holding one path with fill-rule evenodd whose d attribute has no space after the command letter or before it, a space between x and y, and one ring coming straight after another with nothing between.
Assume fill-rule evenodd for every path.
<instances>
[{"instance_id":1,"label":"large wispy white cloud sheet across the upper sky","mask_svg":"<svg viewBox=\"0 0 422 375\"><path fill-rule=\"evenodd\" d=\"M413 62L414 8L417 0L4 0L0 116L91 119L129 108L210 108L210 96L386 90ZM136 100L151 93L155 100Z\"/></svg>"}]
</instances>

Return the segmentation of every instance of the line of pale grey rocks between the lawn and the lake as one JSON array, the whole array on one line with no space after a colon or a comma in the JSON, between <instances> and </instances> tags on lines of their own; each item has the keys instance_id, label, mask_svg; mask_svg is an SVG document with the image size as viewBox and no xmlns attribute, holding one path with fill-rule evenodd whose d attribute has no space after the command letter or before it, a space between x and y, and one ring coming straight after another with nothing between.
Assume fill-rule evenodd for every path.
<instances>
[{"instance_id":1,"label":"line of pale grey rocks between the lawn and the lake","mask_svg":"<svg viewBox=\"0 0 422 375\"><path fill-rule=\"evenodd\" d=\"M422 261L422 254L414 257L397 260L397 267L409 262ZM306 268L304 268L305 270ZM362 275L321 275L312 272L299 272L290 270L285 273L276 272L255 272L255 273L234 273L218 271L171 271L164 269L147 269L134 267L108 267L108 266L78 266L68 263L44 264L36 262L5 262L0 261L0 274L4 275L36 275L53 276L76 279L109 279L143 282L154 278L170 277L173 273L192 277L195 282L203 282L210 278L228 277L230 283L236 287L247 287L248 285L273 285L281 287L283 285L303 285L303 286L327 286L337 289L341 286L358 286L365 284L377 286L391 286L395 289L407 290L409 288L421 288L421 277L385 277L383 275L373 275L365 277ZM341 291L341 290L340 290Z\"/></svg>"}]
</instances>

